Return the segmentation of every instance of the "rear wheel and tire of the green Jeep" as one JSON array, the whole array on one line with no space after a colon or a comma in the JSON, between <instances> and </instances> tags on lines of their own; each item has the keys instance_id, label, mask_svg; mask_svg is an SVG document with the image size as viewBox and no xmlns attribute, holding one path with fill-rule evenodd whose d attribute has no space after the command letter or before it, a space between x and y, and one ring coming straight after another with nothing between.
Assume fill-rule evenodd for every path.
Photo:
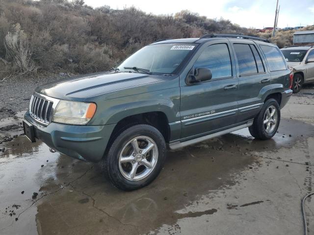
<instances>
[{"instance_id":1,"label":"rear wheel and tire of the green Jeep","mask_svg":"<svg viewBox=\"0 0 314 235\"><path fill-rule=\"evenodd\" d=\"M279 104L275 99L267 99L261 112L254 118L253 125L249 127L249 131L256 139L268 140L276 134L279 123Z\"/></svg>"}]
</instances>

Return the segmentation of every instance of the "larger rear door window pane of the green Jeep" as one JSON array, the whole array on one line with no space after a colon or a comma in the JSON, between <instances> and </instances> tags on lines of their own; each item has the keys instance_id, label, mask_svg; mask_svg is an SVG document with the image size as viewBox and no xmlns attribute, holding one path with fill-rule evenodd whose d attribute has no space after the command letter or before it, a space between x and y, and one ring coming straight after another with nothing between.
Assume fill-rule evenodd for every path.
<instances>
[{"instance_id":1,"label":"larger rear door window pane of the green Jeep","mask_svg":"<svg viewBox=\"0 0 314 235\"><path fill-rule=\"evenodd\" d=\"M253 52L248 44L234 44L240 76L258 73Z\"/></svg>"}]
</instances>

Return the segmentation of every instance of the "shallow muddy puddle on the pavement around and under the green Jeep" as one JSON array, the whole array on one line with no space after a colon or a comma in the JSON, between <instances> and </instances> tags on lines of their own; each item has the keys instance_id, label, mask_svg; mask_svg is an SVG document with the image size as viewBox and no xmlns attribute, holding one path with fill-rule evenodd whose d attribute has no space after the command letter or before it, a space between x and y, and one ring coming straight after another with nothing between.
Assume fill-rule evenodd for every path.
<instances>
[{"instance_id":1,"label":"shallow muddy puddle on the pavement around and under the green Jeep","mask_svg":"<svg viewBox=\"0 0 314 235\"><path fill-rule=\"evenodd\" d=\"M21 136L0 145L5 147L0 153L0 234L145 234L180 218L215 216L219 208L210 207L210 198L209 210L177 211L215 190L222 197L249 167L259 167L253 152L290 148L309 136L313 126L282 120L272 140L254 140L243 129L168 151L157 179L132 192L113 188L96 164L53 154L44 143ZM32 199L34 192L38 195Z\"/></svg>"}]
</instances>

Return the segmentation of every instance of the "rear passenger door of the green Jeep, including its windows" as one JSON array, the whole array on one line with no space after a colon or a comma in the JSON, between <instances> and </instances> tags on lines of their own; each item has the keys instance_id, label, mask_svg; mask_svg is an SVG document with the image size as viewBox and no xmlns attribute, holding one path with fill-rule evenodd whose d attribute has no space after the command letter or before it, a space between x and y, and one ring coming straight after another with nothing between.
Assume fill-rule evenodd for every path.
<instances>
[{"instance_id":1,"label":"rear passenger door of the green Jeep, including its windows","mask_svg":"<svg viewBox=\"0 0 314 235\"><path fill-rule=\"evenodd\" d=\"M261 90L270 85L270 74L266 71L261 52L253 41L234 39L233 45L237 76L239 80L237 122L253 119L262 107Z\"/></svg>"}]
</instances>

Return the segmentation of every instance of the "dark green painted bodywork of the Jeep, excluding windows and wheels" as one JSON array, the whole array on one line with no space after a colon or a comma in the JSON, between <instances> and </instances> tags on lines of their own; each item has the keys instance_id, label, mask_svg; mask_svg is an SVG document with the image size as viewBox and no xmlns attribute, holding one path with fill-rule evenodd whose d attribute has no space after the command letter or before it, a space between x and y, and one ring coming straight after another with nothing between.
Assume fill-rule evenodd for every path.
<instances>
[{"instance_id":1,"label":"dark green painted bodywork of the Jeep, excluding windows and wheels","mask_svg":"<svg viewBox=\"0 0 314 235\"><path fill-rule=\"evenodd\" d=\"M168 40L159 43L184 43ZM191 39L187 40L192 43ZM38 124L27 112L25 119L34 125L36 136L52 149L71 157L100 161L116 124L132 115L162 112L168 120L169 143L182 142L237 126L252 120L269 94L281 95L283 107L291 95L290 71L270 72L259 44L245 39L195 39L195 51L175 75L150 75L138 72L99 72L48 83L35 92L57 99L94 102L97 110L87 125ZM254 44L265 72L239 76L234 42ZM188 84L186 76L201 52L212 44L227 44L232 76ZM157 43L158 44L158 43ZM269 79L268 83L261 83ZM225 90L235 85L235 89Z\"/></svg>"}]
</instances>

